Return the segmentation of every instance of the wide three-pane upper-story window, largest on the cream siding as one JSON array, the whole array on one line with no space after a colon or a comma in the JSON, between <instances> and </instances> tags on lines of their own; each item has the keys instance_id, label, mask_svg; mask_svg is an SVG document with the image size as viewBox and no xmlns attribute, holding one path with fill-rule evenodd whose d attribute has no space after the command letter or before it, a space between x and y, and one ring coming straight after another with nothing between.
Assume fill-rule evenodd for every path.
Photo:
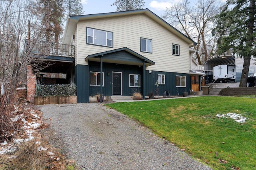
<instances>
[{"instance_id":1,"label":"wide three-pane upper-story window, largest on the cream siding","mask_svg":"<svg viewBox=\"0 0 256 170\"><path fill-rule=\"evenodd\" d=\"M86 27L86 43L113 47L113 32Z\"/></svg>"}]
</instances>

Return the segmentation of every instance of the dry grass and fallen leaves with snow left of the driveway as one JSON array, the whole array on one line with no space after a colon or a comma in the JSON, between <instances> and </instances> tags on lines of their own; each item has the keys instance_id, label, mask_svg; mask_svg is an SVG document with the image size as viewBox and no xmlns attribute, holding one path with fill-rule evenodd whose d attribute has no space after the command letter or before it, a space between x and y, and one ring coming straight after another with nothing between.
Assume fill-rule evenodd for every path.
<instances>
[{"instance_id":1,"label":"dry grass and fallen leaves with snow left of the driveway","mask_svg":"<svg viewBox=\"0 0 256 170\"><path fill-rule=\"evenodd\" d=\"M67 167L77 169L75 161L67 160L66 163L61 150L64 148L62 141L32 104L18 101L13 106L0 109L3 111L0 115L0 143L7 141L13 148L12 151L0 155L0 170L66 170ZM35 118L35 114L40 118ZM28 139L24 122L40 123L40 127L30 128L34 139L14 143L15 139Z\"/></svg>"}]
</instances>

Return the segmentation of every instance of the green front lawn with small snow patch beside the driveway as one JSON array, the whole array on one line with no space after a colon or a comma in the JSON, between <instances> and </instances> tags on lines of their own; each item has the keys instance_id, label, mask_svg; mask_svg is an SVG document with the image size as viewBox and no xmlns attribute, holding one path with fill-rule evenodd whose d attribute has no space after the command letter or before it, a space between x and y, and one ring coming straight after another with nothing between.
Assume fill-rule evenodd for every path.
<instances>
[{"instance_id":1,"label":"green front lawn with small snow patch beside the driveway","mask_svg":"<svg viewBox=\"0 0 256 170\"><path fill-rule=\"evenodd\" d=\"M106 104L217 170L256 170L256 99L202 96ZM230 117L246 117L238 123Z\"/></svg>"}]
</instances>

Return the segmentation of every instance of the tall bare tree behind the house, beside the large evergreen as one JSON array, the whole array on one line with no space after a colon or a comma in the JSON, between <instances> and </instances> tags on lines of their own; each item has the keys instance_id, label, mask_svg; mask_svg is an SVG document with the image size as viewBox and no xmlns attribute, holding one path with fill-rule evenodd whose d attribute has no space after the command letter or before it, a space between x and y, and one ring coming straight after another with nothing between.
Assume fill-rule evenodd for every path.
<instances>
[{"instance_id":1,"label":"tall bare tree behind the house, beside the large evergreen","mask_svg":"<svg viewBox=\"0 0 256 170\"><path fill-rule=\"evenodd\" d=\"M193 6L188 0L167 8L162 18L174 25L190 39L196 39L198 46L194 47L196 59L202 65L214 55L216 36L212 36L215 27L214 16L220 13L219 0L198 0Z\"/></svg>"}]
</instances>

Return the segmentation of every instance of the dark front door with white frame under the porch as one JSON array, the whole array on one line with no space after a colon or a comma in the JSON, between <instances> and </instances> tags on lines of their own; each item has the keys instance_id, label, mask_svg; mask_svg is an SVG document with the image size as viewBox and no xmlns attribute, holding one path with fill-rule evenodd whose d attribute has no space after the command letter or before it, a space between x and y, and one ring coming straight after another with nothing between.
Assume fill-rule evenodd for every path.
<instances>
[{"instance_id":1,"label":"dark front door with white frame under the porch","mask_svg":"<svg viewBox=\"0 0 256 170\"><path fill-rule=\"evenodd\" d=\"M122 95L122 72L112 72L112 95Z\"/></svg>"}]
</instances>

